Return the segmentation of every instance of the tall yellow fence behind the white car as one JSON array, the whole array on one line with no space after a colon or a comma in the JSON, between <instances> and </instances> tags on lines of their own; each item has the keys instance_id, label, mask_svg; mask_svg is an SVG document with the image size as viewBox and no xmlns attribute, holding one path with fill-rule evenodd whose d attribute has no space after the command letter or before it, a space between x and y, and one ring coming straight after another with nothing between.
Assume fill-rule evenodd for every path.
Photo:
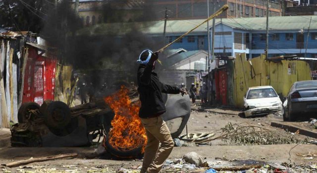
<instances>
[{"instance_id":1,"label":"tall yellow fence behind the white car","mask_svg":"<svg viewBox=\"0 0 317 173\"><path fill-rule=\"evenodd\" d=\"M281 96L297 81L312 80L309 63L300 60L265 61L265 56L246 59L237 54L234 60L234 105L243 107L243 97L249 87L272 86Z\"/></svg>"}]
</instances>

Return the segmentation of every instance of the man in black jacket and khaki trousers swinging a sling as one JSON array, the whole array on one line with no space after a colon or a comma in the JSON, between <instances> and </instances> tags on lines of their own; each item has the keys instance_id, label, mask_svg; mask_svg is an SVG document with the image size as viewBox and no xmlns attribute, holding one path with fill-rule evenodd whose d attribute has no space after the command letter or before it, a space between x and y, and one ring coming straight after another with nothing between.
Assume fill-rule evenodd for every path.
<instances>
[{"instance_id":1,"label":"man in black jacket and khaki trousers swinging a sling","mask_svg":"<svg viewBox=\"0 0 317 173\"><path fill-rule=\"evenodd\" d=\"M158 58L159 52L144 50L137 60L140 64L138 69L138 92L141 101L139 117L148 137L140 173L159 173L174 146L170 131L160 117L166 112L162 92L187 94L184 88L171 87L159 81L158 75L153 71Z\"/></svg>"}]
</instances>

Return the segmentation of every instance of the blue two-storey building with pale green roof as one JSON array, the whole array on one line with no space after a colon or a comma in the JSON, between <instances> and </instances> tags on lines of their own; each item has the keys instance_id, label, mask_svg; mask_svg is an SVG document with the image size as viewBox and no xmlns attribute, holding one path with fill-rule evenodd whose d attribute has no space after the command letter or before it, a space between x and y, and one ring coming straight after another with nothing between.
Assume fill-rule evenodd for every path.
<instances>
[{"instance_id":1,"label":"blue two-storey building with pale green roof","mask_svg":"<svg viewBox=\"0 0 317 173\"><path fill-rule=\"evenodd\" d=\"M310 19L312 21L310 24ZM268 56L297 55L317 58L317 16L278 16L269 18ZM172 42L182 33L189 31L203 20L168 21L166 41ZM153 37L159 37L163 30L157 24L149 30ZM182 26L182 27L180 27ZM308 30L308 28L310 28ZM246 53L257 57L264 53L266 40L266 18L216 19L214 52L216 55L235 56ZM161 32L160 31L160 32ZM171 45L171 48L187 50L208 50L206 26L201 26L190 35ZM161 34L160 34L161 35ZM211 40L212 44L212 40Z\"/></svg>"}]
</instances>

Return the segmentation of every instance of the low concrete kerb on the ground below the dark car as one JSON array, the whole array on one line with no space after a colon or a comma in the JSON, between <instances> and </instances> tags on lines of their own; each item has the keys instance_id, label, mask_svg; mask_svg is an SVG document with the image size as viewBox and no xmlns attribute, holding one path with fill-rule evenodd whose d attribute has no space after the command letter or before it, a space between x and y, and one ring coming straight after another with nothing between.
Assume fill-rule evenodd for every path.
<instances>
[{"instance_id":1,"label":"low concrete kerb on the ground below the dark car","mask_svg":"<svg viewBox=\"0 0 317 173\"><path fill-rule=\"evenodd\" d=\"M289 125L289 124L284 123L284 122L271 122L271 126L276 127L276 128L282 128L284 130L288 130L291 132L296 132L297 130L299 130L299 134L303 134L305 136L317 138L317 131L303 129L303 128L300 128L300 127L297 127L294 125Z\"/></svg>"}]
</instances>

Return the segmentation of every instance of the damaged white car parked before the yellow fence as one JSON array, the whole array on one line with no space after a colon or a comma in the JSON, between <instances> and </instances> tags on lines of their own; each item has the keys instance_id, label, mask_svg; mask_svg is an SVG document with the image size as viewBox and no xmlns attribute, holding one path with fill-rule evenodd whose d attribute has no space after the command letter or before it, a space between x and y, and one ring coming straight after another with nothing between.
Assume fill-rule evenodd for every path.
<instances>
[{"instance_id":1,"label":"damaged white car parked before the yellow fence","mask_svg":"<svg viewBox=\"0 0 317 173\"><path fill-rule=\"evenodd\" d=\"M271 86L250 87L244 97L245 117L283 114L282 101Z\"/></svg>"}]
</instances>

